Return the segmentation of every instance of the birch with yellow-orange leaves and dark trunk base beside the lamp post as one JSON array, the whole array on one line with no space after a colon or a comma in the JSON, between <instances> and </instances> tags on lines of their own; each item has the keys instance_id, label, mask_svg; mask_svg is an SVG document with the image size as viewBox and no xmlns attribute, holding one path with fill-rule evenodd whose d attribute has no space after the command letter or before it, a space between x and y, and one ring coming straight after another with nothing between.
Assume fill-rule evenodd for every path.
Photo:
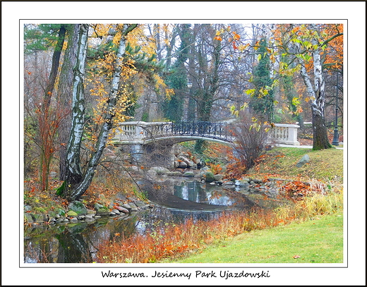
<instances>
[{"instance_id":1,"label":"birch with yellow-orange leaves and dark trunk base beside the lamp post","mask_svg":"<svg viewBox=\"0 0 367 287\"><path fill-rule=\"evenodd\" d=\"M330 29L330 27L336 27ZM325 125L325 77L323 68L327 59L327 47L334 39L343 35L342 30L337 29L337 24L328 25L276 25L273 31L272 41L267 47L270 60L277 64L277 77L294 75L299 73L306 85L308 97L306 101L311 102L313 122L313 149L331 148L327 139L327 127ZM327 31L327 32L326 32ZM256 47L258 43L255 44ZM287 63L282 60L287 57ZM327 63L330 66L330 63ZM271 90L277 85L278 80L273 81ZM250 93L250 90L247 92ZM251 91L253 92L253 91ZM298 106L294 109L299 114L302 109L299 106L300 97L294 97L292 104ZM246 107L244 105L243 107Z\"/></svg>"}]
</instances>

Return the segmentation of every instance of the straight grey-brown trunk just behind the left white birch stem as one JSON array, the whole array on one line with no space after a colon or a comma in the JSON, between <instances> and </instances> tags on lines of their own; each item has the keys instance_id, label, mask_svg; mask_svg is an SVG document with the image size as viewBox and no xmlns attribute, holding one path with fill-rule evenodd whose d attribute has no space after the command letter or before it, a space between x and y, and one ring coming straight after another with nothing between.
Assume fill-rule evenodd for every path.
<instances>
[{"instance_id":1,"label":"straight grey-brown trunk just behind the left white birch stem","mask_svg":"<svg viewBox=\"0 0 367 287\"><path fill-rule=\"evenodd\" d=\"M68 29L68 48L65 51L64 63L61 67L59 88L57 90L57 104L61 113L59 126L60 180L66 180L66 144L71 130L71 101L73 99L73 68L76 64L78 49L79 24L71 24Z\"/></svg>"}]
</instances>

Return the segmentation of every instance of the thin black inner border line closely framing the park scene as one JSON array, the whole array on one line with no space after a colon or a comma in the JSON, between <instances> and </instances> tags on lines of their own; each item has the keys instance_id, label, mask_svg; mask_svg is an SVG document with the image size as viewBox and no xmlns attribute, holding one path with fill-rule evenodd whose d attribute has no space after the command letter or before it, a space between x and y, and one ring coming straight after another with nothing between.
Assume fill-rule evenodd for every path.
<instances>
[{"instance_id":1,"label":"thin black inner border line closely framing the park scene","mask_svg":"<svg viewBox=\"0 0 367 287\"><path fill-rule=\"evenodd\" d=\"M149 1L146 1L146 2L149 2ZM164 1L163 1L164 2ZM271 2L271 1L270 1ZM347 2L347 1L345 1L345 2ZM20 43L20 30L21 30L21 21L24 21L24 20L74 20L74 19L19 19L19 47L20 47L20 44L22 44L22 43ZM88 19L76 19L76 20L88 20ZM95 19L95 20L195 20L195 19ZM218 20L218 19L200 19L200 20ZM348 47L348 44L349 44L349 41L348 41L348 36L349 36L349 33L348 33L348 28L349 28L349 25L348 25L348 19L219 19L219 21L220 20L299 20L299 21L301 21L301 20L323 20L323 21L325 21L325 20L346 20L347 21L347 47ZM344 25L344 24L343 24ZM343 26L343 29L344 29L344 26ZM23 35L24 36L24 35ZM343 47L345 47L345 41L344 41L344 39L343 39ZM22 55L20 55L20 51L21 51L21 49L19 49L19 77L20 77L20 57L22 56ZM347 49L347 59L348 59L348 52L349 52L349 49ZM23 56L24 56L24 54L23 54ZM23 63L24 63L24 61L23 61ZM346 78L347 78L347 83L348 83L348 72L349 72L349 67L348 67L348 64L349 64L349 62L347 61L347 73L346 73ZM24 66L23 66L23 68L24 68ZM22 88L20 87L20 84L21 84L21 81L20 81L20 78L19 78L19 116L20 116L20 92L22 91ZM347 97L348 97L348 85L347 85ZM344 99L344 95L343 95L343 99ZM24 101L23 101L23 104L24 104ZM348 121L348 100L347 100L347 103L346 103L346 106L347 106L347 130L348 130L348 123L349 123L349 121ZM23 128L20 126L20 117L19 117L19 135L20 135L20 133L21 133L21 130L23 130ZM347 137L347 142L348 142L348 137ZM23 143L23 142L20 142L20 137L19 137L19 149L20 149L20 147L22 146L22 145L20 145L21 143ZM24 149L23 149L23 152L24 152ZM347 145L347 149L346 149L346 152L345 152L346 154L348 154L348 145ZM344 158L344 148L343 148L343 158ZM19 157L19 160L21 159L21 157ZM343 173L344 173L344 165L343 165ZM21 171L20 171L20 163L19 163L19 202L20 202L20 174L21 174ZM24 175L24 174L23 174ZM348 156L347 156L347 178L348 178ZM344 185L344 176L343 176L343 185ZM24 189L24 185L23 185L23 189ZM348 190L348 181L347 181L347 190ZM347 193L347 195L345 195L346 196L346 201L347 201L347 207L348 207L348 193ZM344 197L344 194L343 194L343 197ZM24 202L23 202L23 205L24 205ZM347 208L347 219L345 219L344 218L344 216L343 216L343 221L344 220L347 220L347 243L349 242L349 240L348 240L348 228L349 228L349 221L348 221L348 219L349 219L349 216L348 216L348 211L349 211L349 209ZM343 211L343 214L344 214L344 211ZM18 214L18 216L19 216L19 224L20 224L20 212L19 212L19 214ZM20 226L19 226L20 227ZM20 260L20 228L19 228L19 230L18 230L18 234L19 234L19 252L18 252L18 254L19 254L19 260ZM343 250L344 250L344 233L343 233ZM73 266L73 267L60 267L60 266L54 266L54 267L52 267L52 266L42 266L42 267L36 267L36 266L30 266L30 267L25 267L25 266L20 266L20 261L19 261L19 265L18 265L18 267L19 268L26 268L26 269L28 269L28 268L109 268L109 269L116 269L116 268L124 268L124 269L136 269L136 268L138 268L138 269L145 269L145 268L150 268L150 269L158 269L158 268L166 268L166 269L172 269L172 268L200 268L200 269L204 269L204 268L210 268L210 269L215 269L215 268L230 268L230 269L234 269L234 268L238 268L238 269L249 269L249 268L257 268L257 269L277 269L277 268L323 268L323 269L343 269L343 268L348 268L349 267L349 257L348 257L348 248L349 248L349 245L347 244L347 266L341 266L341 267L338 267L338 266L336 266L336 267L329 267L329 266L320 266L320 267L317 267L317 266L315 266L315 267L311 267L311 266L307 266L307 267L302 267L302 266L291 266L291 267L287 267L287 266L284 266L284 267L281 267L281 266L277 266L277 267L255 267L255 266L250 266L250 267L246 267L246 266L243 266L243 267L236 267L236 266L234 266L234 267L232 267L232 266L224 266L224 267L196 267L196 266L182 266L182 267L179 267L179 266L164 266L164 267L159 267L159 266L152 266L152 267L141 267L141 266L138 266L138 267L125 267L125 266L120 266L120 267L114 267L114 266L111 266L111 267L101 267L101 266L92 266L93 264L92 263L81 263L81 264L91 264L91 266L89 267L83 267L83 266L81 266L81 267L78 267L78 266ZM24 250L24 247L23 247L23 250ZM343 257L344 257L344 252L343 252ZM52 264L52 263L49 263L49 264ZM75 263L65 263L65 264L75 264ZM111 263L106 263L106 264L111 264ZM112 263L112 264L114 264L114 263ZM130 264L130 263L120 263L120 264ZM141 264L141 263L138 263L138 264ZM158 263L158 264L160 264L160 263ZM164 263L162 263L162 264L164 264ZM168 264L168 263L167 263ZM185 264L185 263L169 263L169 264ZM200 264L202 264L202 263L200 263ZM209 264L212 264L212 263L209 263ZM231 263L228 263L228 264L231 264ZM253 264L253 263L243 263L243 264ZM255 263L255 264L258 264L258 263ZM260 264L260 263L259 263ZM265 264L269 264L269 263L265 263ZM275 263L270 263L270 264L275 264ZM283 264L283 263L276 263L276 264ZM284 264L288 264L288 263L284 263ZM315 263L315 264L318 264L318 263ZM323 263L322 263L323 264ZM325 264L333 264L333 263L325 263ZM338 264L338 263L335 263L335 264ZM31 264L32 265L32 264Z\"/></svg>"}]
</instances>

